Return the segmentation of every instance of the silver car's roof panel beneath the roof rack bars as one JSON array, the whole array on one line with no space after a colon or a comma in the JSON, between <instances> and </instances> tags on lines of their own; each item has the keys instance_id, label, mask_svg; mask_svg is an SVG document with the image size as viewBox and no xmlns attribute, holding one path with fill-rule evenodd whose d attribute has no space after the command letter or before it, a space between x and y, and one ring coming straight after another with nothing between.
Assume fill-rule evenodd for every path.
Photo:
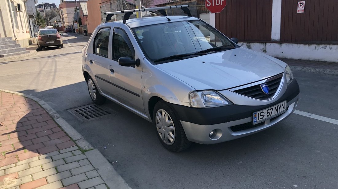
<instances>
[{"instance_id":1,"label":"silver car's roof panel beneath the roof rack bars","mask_svg":"<svg viewBox=\"0 0 338 189\"><path fill-rule=\"evenodd\" d=\"M199 20L196 17L188 17L188 16L167 16L171 20L171 22L178 22L178 21L188 21L188 20ZM154 25L154 24L162 24L168 23L168 19L164 16L155 16L155 17L145 17L145 18L133 18L126 20L126 24L130 28L140 27L140 26L147 26L147 25ZM122 23L123 20L114 21ZM114 22L104 23L103 25L111 25Z\"/></svg>"}]
</instances>

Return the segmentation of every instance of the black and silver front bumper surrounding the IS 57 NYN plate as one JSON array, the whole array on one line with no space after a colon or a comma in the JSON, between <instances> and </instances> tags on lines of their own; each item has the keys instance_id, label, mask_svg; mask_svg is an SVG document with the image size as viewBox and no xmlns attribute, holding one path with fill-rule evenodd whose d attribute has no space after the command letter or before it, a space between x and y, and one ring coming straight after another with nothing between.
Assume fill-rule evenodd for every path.
<instances>
[{"instance_id":1,"label":"black and silver front bumper surrounding the IS 57 NYN plate","mask_svg":"<svg viewBox=\"0 0 338 189\"><path fill-rule=\"evenodd\" d=\"M180 116L180 122L184 128L188 140L201 144L215 144L248 136L290 116L298 103L299 87L296 80L293 80L283 96L275 102L261 106L228 105L223 107L196 109L173 105ZM257 124L248 129L234 132L230 127L252 123L252 114L259 110L272 107L282 101L287 101L287 111L276 118L268 119L264 124ZM190 111L189 111L190 110ZM209 124L208 124L209 123ZM211 124L210 124L211 123ZM216 137L211 139L209 133L216 130Z\"/></svg>"}]
</instances>

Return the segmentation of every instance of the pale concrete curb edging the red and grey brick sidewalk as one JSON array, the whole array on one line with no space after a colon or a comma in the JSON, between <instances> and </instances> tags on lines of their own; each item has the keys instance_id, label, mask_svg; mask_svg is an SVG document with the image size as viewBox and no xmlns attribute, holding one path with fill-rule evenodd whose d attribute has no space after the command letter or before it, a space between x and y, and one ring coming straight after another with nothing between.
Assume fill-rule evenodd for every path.
<instances>
[{"instance_id":1,"label":"pale concrete curb edging the red and grey brick sidewalk","mask_svg":"<svg viewBox=\"0 0 338 189\"><path fill-rule=\"evenodd\" d=\"M107 184L109 188L119 188L119 189L130 189L128 184L124 179L119 175L119 173L114 169L111 163L102 155L98 149L94 149L93 146L83 138L83 136L78 133L66 120L64 120L55 110L53 110L45 101L40 98L26 95L24 93L18 93L14 91L8 91L0 89L0 91L13 93L26 98L30 98L41 105L43 109L54 119L54 121L59 124L62 129L74 140L74 142L82 149L89 150L84 152L84 155L88 158L90 163L95 167L97 172L100 174L103 181Z\"/></svg>"}]
</instances>

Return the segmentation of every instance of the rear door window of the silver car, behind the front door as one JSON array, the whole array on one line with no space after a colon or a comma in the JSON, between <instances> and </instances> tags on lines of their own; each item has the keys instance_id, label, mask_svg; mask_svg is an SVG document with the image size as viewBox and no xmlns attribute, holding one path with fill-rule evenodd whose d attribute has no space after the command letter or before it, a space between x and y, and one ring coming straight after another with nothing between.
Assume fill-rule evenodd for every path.
<instances>
[{"instance_id":1,"label":"rear door window of the silver car, behind the front door","mask_svg":"<svg viewBox=\"0 0 338 189\"><path fill-rule=\"evenodd\" d=\"M110 28L102 28L94 38L94 54L108 57Z\"/></svg>"}]
</instances>

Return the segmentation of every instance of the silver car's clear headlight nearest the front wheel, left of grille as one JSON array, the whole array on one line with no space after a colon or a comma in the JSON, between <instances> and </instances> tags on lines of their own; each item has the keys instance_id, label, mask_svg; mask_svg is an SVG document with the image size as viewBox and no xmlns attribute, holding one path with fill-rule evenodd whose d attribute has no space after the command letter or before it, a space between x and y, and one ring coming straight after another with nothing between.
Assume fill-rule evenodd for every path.
<instances>
[{"instance_id":1,"label":"silver car's clear headlight nearest the front wheel, left of grille","mask_svg":"<svg viewBox=\"0 0 338 189\"><path fill-rule=\"evenodd\" d=\"M194 108L205 108L229 105L231 102L214 91L192 92L189 95L190 105Z\"/></svg>"}]
</instances>

